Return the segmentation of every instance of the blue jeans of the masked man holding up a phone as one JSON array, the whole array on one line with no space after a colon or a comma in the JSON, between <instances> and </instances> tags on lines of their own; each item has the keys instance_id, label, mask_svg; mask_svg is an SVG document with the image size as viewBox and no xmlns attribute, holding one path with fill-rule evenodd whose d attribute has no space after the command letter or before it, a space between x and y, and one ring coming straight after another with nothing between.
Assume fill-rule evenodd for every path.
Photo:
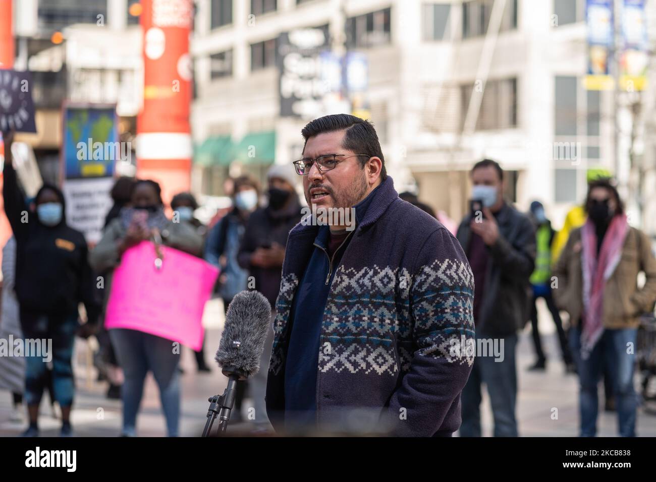
<instances>
[{"instance_id":1,"label":"blue jeans of the masked man holding up a phone","mask_svg":"<svg viewBox=\"0 0 656 482\"><path fill-rule=\"evenodd\" d=\"M477 336L484 338L484 336ZM515 351L517 335L505 336L503 361L495 361L489 355L482 357L476 353L474 367L466 385L462 389L461 437L481 436L481 384L487 386L494 417L495 437L517 437L515 405L517 401L517 370ZM478 346L478 343L477 343Z\"/></svg>"}]
</instances>

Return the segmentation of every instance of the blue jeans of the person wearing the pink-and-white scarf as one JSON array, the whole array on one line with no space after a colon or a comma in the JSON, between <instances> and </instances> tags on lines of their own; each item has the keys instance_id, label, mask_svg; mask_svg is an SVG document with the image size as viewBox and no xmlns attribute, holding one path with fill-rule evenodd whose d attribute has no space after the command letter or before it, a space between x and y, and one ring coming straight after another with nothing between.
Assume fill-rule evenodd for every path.
<instances>
[{"instance_id":1,"label":"blue jeans of the person wearing the pink-and-white scarf","mask_svg":"<svg viewBox=\"0 0 656 482\"><path fill-rule=\"evenodd\" d=\"M581 437L597 434L599 401L597 386L604 366L607 365L622 437L636 435L636 409L638 396L633 386L633 370L636 363L635 350L627 353L626 344L636 346L637 329L605 329L602 338L592 349L588 359L581 359L581 328L572 327L569 343L579 369L579 411L581 412Z\"/></svg>"}]
</instances>

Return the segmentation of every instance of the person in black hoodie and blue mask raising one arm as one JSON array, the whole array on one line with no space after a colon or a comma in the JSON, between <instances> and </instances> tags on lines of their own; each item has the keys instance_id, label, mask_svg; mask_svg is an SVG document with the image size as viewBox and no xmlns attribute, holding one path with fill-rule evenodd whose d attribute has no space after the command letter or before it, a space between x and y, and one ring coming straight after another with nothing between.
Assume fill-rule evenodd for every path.
<instances>
[{"instance_id":1,"label":"person in black hoodie and blue mask raising one arm","mask_svg":"<svg viewBox=\"0 0 656 482\"><path fill-rule=\"evenodd\" d=\"M51 350L50 354L26 353L25 398L30 426L24 435L39 435L39 404L47 385L47 358L51 356L54 397L62 409L60 434L70 436L73 341L76 332L86 337L95 331L100 303L87 260L87 242L81 232L66 224L62 191L44 184L35 197L35 210L28 210L12 167L12 137L12 134L3 136L3 199L16 237L15 289L20 324L26 339L52 340L51 349L46 349ZM83 327L78 323L79 302L83 302L87 310L88 321Z\"/></svg>"}]
</instances>

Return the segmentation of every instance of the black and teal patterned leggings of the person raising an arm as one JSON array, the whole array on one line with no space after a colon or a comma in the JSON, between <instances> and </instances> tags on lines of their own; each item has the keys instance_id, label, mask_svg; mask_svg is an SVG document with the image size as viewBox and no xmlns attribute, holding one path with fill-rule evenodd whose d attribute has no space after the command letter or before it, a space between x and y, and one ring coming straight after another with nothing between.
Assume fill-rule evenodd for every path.
<instances>
[{"instance_id":1,"label":"black and teal patterned leggings of the person raising an arm","mask_svg":"<svg viewBox=\"0 0 656 482\"><path fill-rule=\"evenodd\" d=\"M20 322L24 339L52 340L52 374L49 372L45 353L26 353L25 401L28 405L39 405L43 390L48 387L52 376L52 395L60 407L73 405L75 380L73 379L73 343L77 313L71 315L51 315L21 309ZM29 346L26 343L26 348ZM42 350L47 346L41 345Z\"/></svg>"}]
</instances>

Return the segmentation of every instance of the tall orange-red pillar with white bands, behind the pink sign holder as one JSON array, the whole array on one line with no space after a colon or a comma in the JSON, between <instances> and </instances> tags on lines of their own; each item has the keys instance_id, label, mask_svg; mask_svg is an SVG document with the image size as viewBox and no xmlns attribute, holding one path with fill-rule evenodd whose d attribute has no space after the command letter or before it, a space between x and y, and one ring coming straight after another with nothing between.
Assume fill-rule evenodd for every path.
<instances>
[{"instance_id":1,"label":"tall orange-red pillar with white bands, behind the pink sign holder","mask_svg":"<svg viewBox=\"0 0 656 482\"><path fill-rule=\"evenodd\" d=\"M165 203L191 186L192 0L142 0L144 106L137 117L136 173Z\"/></svg>"}]
</instances>

